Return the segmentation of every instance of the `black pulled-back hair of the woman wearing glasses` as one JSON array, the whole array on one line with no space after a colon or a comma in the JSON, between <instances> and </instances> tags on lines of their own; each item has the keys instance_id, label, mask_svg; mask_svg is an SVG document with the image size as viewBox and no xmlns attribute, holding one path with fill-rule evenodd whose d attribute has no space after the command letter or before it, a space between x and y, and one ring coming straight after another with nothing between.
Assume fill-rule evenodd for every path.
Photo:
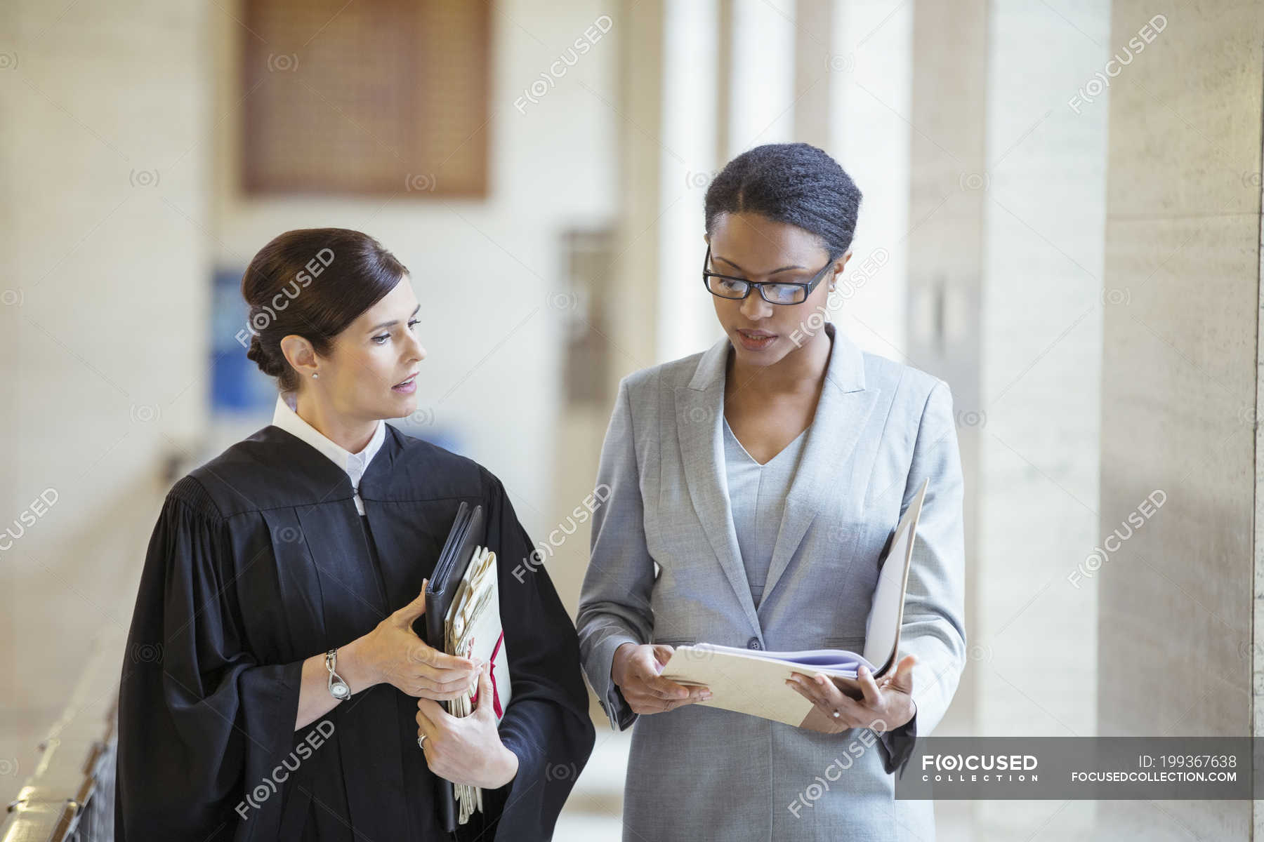
<instances>
[{"instance_id":1,"label":"black pulled-back hair of the woman wearing glasses","mask_svg":"<svg viewBox=\"0 0 1264 842\"><path fill-rule=\"evenodd\" d=\"M707 234L720 213L758 213L820 237L829 259L852 245L861 191L824 150L765 144L728 162L707 188Z\"/></svg>"}]
</instances>

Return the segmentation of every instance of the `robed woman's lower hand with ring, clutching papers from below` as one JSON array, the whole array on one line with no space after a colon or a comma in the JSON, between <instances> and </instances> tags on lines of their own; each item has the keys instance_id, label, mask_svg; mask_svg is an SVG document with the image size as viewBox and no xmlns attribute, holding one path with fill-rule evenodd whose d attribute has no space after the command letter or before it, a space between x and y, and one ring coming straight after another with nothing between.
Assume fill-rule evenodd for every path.
<instances>
[{"instance_id":1,"label":"robed woman's lower hand with ring, clutching papers from below","mask_svg":"<svg viewBox=\"0 0 1264 842\"><path fill-rule=\"evenodd\" d=\"M518 774L518 756L501 742L492 711L490 664L478 674L478 702L469 716L453 716L435 699L417 699L417 737L426 735L426 764L454 784L499 789Z\"/></svg>"}]
</instances>

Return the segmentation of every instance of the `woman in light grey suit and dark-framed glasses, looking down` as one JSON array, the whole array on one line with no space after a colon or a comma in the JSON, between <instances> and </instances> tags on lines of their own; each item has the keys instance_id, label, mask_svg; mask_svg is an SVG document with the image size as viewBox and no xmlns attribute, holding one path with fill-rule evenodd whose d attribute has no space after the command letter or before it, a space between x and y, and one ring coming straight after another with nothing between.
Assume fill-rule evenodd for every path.
<instances>
[{"instance_id":1,"label":"woman in light grey suit and dark-framed glasses, looking down","mask_svg":"<svg viewBox=\"0 0 1264 842\"><path fill-rule=\"evenodd\" d=\"M895 800L894 774L966 660L961 457L948 384L824 318L860 201L806 144L729 162L707 191L703 265L726 336L619 384L576 625L612 726L636 726L624 839L934 838L932 803ZM709 707L659 674L700 641L861 651L884 549L927 478L896 669L862 673L862 699L791 682L830 725Z\"/></svg>"}]
</instances>

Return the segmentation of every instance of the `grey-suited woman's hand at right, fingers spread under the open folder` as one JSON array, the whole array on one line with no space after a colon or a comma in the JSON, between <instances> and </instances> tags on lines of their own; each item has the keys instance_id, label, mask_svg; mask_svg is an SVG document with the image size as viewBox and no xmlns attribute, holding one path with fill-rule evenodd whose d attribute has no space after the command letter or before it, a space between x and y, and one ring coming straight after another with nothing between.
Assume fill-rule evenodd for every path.
<instances>
[{"instance_id":1,"label":"grey-suited woman's hand at right, fingers spread under the open folder","mask_svg":"<svg viewBox=\"0 0 1264 842\"><path fill-rule=\"evenodd\" d=\"M891 731L905 725L918 712L913 701L913 665L916 655L905 655L896 664L895 672L881 679L881 685L873 680L868 669L861 665L856 679L861 685L863 698L853 699L838 689L827 675L804 675L794 673L786 684L795 688L800 696L817 706L825 715L825 725L805 727L822 733L838 733L847 728L873 728ZM818 717L819 720L819 717Z\"/></svg>"}]
</instances>

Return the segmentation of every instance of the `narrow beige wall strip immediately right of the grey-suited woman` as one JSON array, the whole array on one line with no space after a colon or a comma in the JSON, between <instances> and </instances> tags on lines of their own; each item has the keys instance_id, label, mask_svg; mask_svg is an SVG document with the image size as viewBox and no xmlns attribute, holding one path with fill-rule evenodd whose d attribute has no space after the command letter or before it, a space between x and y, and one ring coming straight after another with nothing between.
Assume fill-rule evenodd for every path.
<instances>
[{"instance_id":1,"label":"narrow beige wall strip immediately right of the grey-suited woman","mask_svg":"<svg viewBox=\"0 0 1264 842\"><path fill-rule=\"evenodd\" d=\"M981 408L981 336L947 329L938 313L981 321L982 189L962 189L986 169L987 4L918 3L913 18L913 93L909 146L908 342L909 365L943 377L954 409ZM951 105L949 105L951 104ZM978 425L958 422L966 477L967 643L977 622ZM975 677L962 675L942 733L971 733Z\"/></svg>"}]
</instances>

